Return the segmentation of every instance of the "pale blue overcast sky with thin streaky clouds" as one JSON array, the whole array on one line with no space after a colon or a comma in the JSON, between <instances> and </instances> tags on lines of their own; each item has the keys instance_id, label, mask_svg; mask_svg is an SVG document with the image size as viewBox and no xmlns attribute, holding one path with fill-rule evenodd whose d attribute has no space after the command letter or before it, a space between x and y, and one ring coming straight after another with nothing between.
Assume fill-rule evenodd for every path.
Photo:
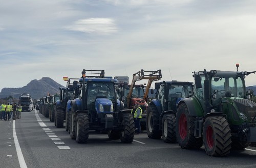
<instances>
[{"instance_id":1,"label":"pale blue overcast sky with thin streaky clouds","mask_svg":"<svg viewBox=\"0 0 256 168\"><path fill-rule=\"evenodd\" d=\"M0 0L0 90L82 69L194 81L193 71L256 70L256 1ZM131 81L131 80L130 80ZM146 81L142 81L144 83ZM246 77L256 85L256 74Z\"/></svg>"}]
</instances>

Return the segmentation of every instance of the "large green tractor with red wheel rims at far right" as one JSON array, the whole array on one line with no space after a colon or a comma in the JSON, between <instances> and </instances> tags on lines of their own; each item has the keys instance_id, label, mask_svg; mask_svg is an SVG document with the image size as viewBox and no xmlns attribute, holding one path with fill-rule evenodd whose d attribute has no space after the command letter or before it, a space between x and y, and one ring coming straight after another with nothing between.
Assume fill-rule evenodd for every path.
<instances>
[{"instance_id":1,"label":"large green tractor with red wheel rims at far right","mask_svg":"<svg viewBox=\"0 0 256 168\"><path fill-rule=\"evenodd\" d=\"M256 142L256 103L246 95L245 76L253 72L194 72L194 95L180 100L176 136L181 148L226 156Z\"/></svg>"}]
</instances>

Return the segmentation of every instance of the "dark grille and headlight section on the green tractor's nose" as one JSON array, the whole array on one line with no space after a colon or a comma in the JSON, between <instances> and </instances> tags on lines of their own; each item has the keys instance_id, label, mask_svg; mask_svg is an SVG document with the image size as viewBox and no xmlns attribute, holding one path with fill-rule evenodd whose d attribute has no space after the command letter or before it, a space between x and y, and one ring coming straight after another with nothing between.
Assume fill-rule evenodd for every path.
<instances>
[{"instance_id":1,"label":"dark grille and headlight section on the green tractor's nose","mask_svg":"<svg viewBox=\"0 0 256 168\"><path fill-rule=\"evenodd\" d=\"M233 100L238 110L248 117L249 121L256 115L256 103L248 99L234 99Z\"/></svg>"}]
</instances>

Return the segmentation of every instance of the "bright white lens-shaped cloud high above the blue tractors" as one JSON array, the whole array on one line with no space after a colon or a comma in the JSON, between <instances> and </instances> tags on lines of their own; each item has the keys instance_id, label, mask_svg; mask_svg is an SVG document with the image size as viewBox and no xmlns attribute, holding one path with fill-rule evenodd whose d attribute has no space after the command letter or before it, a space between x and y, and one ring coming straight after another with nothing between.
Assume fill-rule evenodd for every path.
<instances>
[{"instance_id":1,"label":"bright white lens-shaped cloud high above the blue tractors","mask_svg":"<svg viewBox=\"0 0 256 168\"><path fill-rule=\"evenodd\" d=\"M74 21L66 29L84 33L111 34L117 32L115 20L111 18L89 18Z\"/></svg>"}]
</instances>

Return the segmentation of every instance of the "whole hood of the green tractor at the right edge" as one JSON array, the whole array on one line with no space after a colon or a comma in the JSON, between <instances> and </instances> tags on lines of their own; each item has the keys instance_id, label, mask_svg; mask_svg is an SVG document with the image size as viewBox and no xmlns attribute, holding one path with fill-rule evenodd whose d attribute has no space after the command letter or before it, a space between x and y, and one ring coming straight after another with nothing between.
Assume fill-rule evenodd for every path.
<instances>
[{"instance_id":1,"label":"whole hood of the green tractor at the right edge","mask_svg":"<svg viewBox=\"0 0 256 168\"><path fill-rule=\"evenodd\" d=\"M232 101L233 106L238 110L237 113L244 121L247 122L256 122L256 103L243 98L228 98ZM223 99L222 102L227 101L227 99ZM232 109L234 110L234 109Z\"/></svg>"}]
</instances>

